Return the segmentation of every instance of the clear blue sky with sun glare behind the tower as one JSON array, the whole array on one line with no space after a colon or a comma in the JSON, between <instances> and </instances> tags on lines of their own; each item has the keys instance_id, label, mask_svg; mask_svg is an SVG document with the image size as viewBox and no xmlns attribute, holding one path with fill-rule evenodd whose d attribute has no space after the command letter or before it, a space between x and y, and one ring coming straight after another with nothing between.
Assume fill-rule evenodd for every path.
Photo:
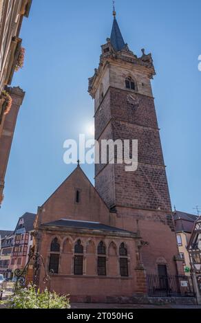
<instances>
[{"instance_id":1,"label":"clear blue sky with sun glare behind the tower","mask_svg":"<svg viewBox=\"0 0 201 323\"><path fill-rule=\"evenodd\" d=\"M152 81L172 205L201 205L200 0L116 0L120 30L135 54L154 58ZM33 0L21 30L25 65L12 85L26 91L6 175L1 229L36 212L72 172L63 142L87 133L94 103L87 78L112 29L112 0ZM91 181L94 166L83 166Z\"/></svg>"}]
</instances>

